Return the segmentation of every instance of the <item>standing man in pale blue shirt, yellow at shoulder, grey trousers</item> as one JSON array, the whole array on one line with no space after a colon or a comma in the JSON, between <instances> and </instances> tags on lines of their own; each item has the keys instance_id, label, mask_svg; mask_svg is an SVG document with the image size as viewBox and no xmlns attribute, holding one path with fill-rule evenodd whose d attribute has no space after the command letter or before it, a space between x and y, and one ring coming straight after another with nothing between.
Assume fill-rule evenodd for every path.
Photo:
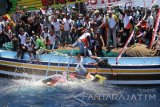
<instances>
[{"instance_id":1,"label":"standing man in pale blue shirt, yellow at shoulder, grey trousers","mask_svg":"<svg viewBox=\"0 0 160 107\"><path fill-rule=\"evenodd\" d=\"M118 25L118 18L116 15L112 13L112 11L108 12L109 16L107 17L107 26L108 26L108 35L107 35L107 47L110 46L110 37L113 37L114 47L117 47L116 41L116 27Z\"/></svg>"}]
</instances>

